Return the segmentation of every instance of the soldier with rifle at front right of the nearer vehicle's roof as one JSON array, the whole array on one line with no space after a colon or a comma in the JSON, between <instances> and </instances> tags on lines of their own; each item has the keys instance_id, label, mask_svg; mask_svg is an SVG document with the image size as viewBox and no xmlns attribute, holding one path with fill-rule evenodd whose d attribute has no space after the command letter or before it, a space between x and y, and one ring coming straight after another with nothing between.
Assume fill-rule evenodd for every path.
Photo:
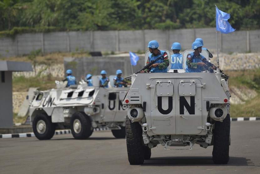
<instances>
[{"instance_id":1,"label":"soldier with rifle at front right of the nearer vehicle's roof","mask_svg":"<svg viewBox=\"0 0 260 174\"><path fill-rule=\"evenodd\" d=\"M187 55L187 60L186 60L186 73L200 73L205 70L209 69L216 69L215 66L213 67L207 67L205 63L203 63L200 59L197 57L200 57L202 59L205 59L203 55L201 55L202 51L202 46L203 44L199 41L195 41L192 43L192 49L194 52L191 52Z\"/></svg>"}]
</instances>

